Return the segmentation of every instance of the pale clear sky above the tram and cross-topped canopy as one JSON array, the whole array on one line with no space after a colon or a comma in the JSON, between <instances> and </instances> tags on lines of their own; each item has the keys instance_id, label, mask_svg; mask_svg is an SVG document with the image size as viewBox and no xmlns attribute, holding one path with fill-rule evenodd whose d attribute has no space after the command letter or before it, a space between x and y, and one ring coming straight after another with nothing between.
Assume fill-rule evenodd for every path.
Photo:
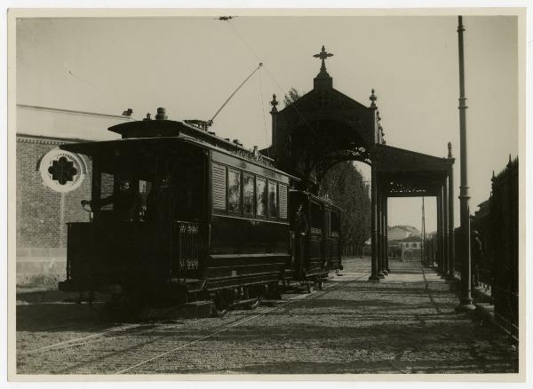
<instances>
[{"instance_id":1,"label":"pale clear sky above the tram and cross-topped canopy","mask_svg":"<svg viewBox=\"0 0 533 389\"><path fill-rule=\"evenodd\" d=\"M222 13L223 14L223 13ZM333 87L378 108L387 145L455 164L459 224L457 17L216 16L17 20L18 104L142 119L166 107L174 120L215 118L211 131L244 147L270 144L269 101L313 88L322 44ZM492 171L518 153L517 20L465 16L465 95L471 210L489 198ZM106 129L94 129L105 132ZM60 136L60 134L58 134ZM368 178L370 169L357 167ZM389 225L420 226L421 199L390 199ZM426 231L436 228L434 198Z\"/></svg>"}]
</instances>

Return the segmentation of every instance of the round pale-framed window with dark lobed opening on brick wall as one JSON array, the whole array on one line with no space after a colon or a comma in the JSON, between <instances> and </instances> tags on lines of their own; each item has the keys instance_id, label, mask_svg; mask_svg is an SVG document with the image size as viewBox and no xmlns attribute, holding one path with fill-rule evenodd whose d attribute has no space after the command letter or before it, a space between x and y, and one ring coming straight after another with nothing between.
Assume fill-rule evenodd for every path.
<instances>
[{"instance_id":1,"label":"round pale-framed window with dark lobed opening on brick wall","mask_svg":"<svg viewBox=\"0 0 533 389\"><path fill-rule=\"evenodd\" d=\"M79 187L87 173L83 157L57 147L41 158L38 168L44 185L61 193Z\"/></svg>"}]
</instances>

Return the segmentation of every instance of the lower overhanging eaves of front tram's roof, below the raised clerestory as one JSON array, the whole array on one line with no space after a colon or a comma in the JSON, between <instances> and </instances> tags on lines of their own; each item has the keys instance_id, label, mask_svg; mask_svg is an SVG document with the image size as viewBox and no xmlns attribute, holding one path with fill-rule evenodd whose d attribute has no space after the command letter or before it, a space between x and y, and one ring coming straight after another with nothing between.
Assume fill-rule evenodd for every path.
<instances>
[{"instance_id":1,"label":"lower overhanging eaves of front tram's roof, below the raised clerestory","mask_svg":"<svg viewBox=\"0 0 533 389\"><path fill-rule=\"evenodd\" d=\"M280 171L274 166L272 166L267 157L261 155L261 158L264 158L267 163L262 163L260 160L253 160L251 157L245 155L252 155L252 153L242 147L239 147L237 150L228 150L226 147L218 147L209 144L206 141L201 139L195 139L187 135L176 135L169 137L150 137L150 138L126 138L126 139L115 139L115 140L103 140L103 141L90 141L90 142L80 142L80 143L69 143L61 145L60 148L63 150L71 151L73 153L79 153L84 155L90 155L92 157L99 155L113 155L116 151L121 151L128 154L159 154L163 149L171 149L173 146L178 144L189 144L194 147L207 148L222 154L230 155L234 158L240 159L246 163L253 163L262 168L267 168L271 171L276 171L284 176L289 177L290 179L299 179L288 174L285 171Z\"/></svg>"}]
</instances>

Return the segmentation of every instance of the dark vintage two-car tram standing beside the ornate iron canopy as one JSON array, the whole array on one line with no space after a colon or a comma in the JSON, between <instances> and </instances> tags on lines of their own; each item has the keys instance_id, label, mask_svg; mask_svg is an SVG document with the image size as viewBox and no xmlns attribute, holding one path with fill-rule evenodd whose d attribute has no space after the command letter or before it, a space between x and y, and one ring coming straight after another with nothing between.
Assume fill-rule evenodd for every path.
<instances>
[{"instance_id":1,"label":"dark vintage two-car tram standing beside the ornate iron canopy","mask_svg":"<svg viewBox=\"0 0 533 389\"><path fill-rule=\"evenodd\" d=\"M340 268L338 208L290 189L298 179L257 148L158 116L109 128L122 139L61 146L88 155L92 169L91 221L68 223L60 290L223 309L257 304L280 282L322 285ZM296 203L309 220L302 250Z\"/></svg>"}]
</instances>

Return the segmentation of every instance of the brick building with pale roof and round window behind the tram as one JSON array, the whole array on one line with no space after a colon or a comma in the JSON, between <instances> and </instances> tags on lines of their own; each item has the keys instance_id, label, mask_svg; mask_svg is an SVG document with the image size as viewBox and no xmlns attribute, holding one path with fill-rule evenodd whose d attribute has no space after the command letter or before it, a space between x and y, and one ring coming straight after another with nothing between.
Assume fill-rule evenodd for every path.
<instances>
[{"instance_id":1,"label":"brick building with pale roof and round window behind the tram","mask_svg":"<svg viewBox=\"0 0 533 389\"><path fill-rule=\"evenodd\" d=\"M66 277L67 223L89 220L91 198L91 160L58 147L117 139L107 127L132 119L24 105L16 118L17 285L52 286Z\"/></svg>"}]
</instances>

